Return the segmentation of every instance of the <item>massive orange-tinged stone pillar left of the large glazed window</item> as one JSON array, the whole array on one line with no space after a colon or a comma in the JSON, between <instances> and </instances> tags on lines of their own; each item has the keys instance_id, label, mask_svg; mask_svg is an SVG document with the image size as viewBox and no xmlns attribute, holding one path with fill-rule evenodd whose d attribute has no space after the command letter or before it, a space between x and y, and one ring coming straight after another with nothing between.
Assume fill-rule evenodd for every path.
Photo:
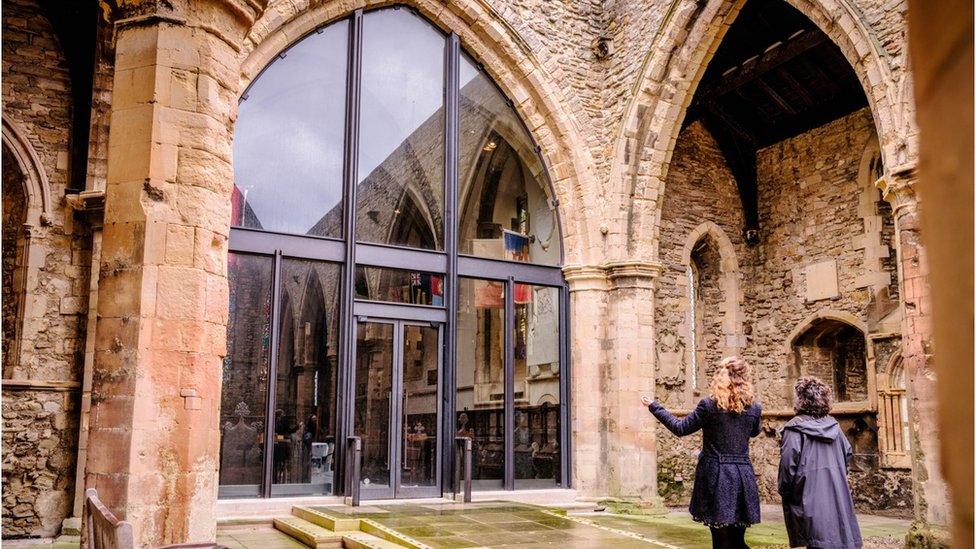
<instances>
[{"instance_id":1,"label":"massive orange-tinged stone pillar left of the large glazed window","mask_svg":"<svg viewBox=\"0 0 976 549\"><path fill-rule=\"evenodd\" d=\"M216 534L231 137L259 9L119 7L85 487L140 547Z\"/></svg>"}]
</instances>

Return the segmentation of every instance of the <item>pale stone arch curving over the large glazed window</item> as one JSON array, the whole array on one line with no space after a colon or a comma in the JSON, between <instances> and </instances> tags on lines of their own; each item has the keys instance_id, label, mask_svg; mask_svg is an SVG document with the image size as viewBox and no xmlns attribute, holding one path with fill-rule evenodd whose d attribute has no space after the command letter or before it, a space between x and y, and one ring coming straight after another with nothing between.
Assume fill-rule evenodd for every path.
<instances>
[{"instance_id":1,"label":"pale stone arch curving over the large glazed window","mask_svg":"<svg viewBox=\"0 0 976 549\"><path fill-rule=\"evenodd\" d=\"M378 0L351 2L281 2L270 6L245 38L241 63L241 86L247 85L281 51L316 28L345 17L356 9L393 5ZM595 222L588 216L600 211L595 188L595 163L578 124L568 109L559 86L511 22L490 5L478 0L406 0L405 5L445 32L460 37L465 51L512 100L539 147L548 170L557 204L563 238L564 265L586 264L601 253L602 242L593 236ZM599 257L599 256L597 256Z\"/></svg>"}]
</instances>

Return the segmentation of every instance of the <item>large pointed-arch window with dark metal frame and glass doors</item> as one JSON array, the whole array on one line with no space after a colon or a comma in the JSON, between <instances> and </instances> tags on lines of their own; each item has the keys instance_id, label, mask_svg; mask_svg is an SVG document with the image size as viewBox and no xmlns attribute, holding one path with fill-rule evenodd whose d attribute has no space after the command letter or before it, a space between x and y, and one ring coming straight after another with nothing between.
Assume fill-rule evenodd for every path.
<instances>
[{"instance_id":1,"label":"large pointed-arch window with dark metal frame and glass doors","mask_svg":"<svg viewBox=\"0 0 976 549\"><path fill-rule=\"evenodd\" d=\"M545 165L409 9L279 54L234 133L221 497L567 486L566 293Z\"/></svg>"}]
</instances>

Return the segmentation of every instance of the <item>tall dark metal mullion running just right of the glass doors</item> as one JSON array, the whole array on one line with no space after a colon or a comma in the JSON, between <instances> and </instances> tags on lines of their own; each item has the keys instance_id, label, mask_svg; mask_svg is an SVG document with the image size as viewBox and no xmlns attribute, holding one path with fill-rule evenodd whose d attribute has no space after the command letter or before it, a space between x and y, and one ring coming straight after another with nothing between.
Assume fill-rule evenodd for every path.
<instances>
[{"instance_id":1,"label":"tall dark metal mullion running just right of the glass doors","mask_svg":"<svg viewBox=\"0 0 976 549\"><path fill-rule=\"evenodd\" d=\"M460 62L461 44L458 35L451 33L447 37L447 47L445 48L445 147L444 147L444 218L446 227L445 248L447 251L447 283L444 291L447 305L447 330L446 341L442 348L443 372L441 373L441 414L443 424L443 436L453 436L456 432L455 422L457 414L454 411L457 396L457 195L458 195L458 64ZM443 330L442 330L443 333ZM441 441L442 437L438 438ZM441 441L441 471L438 473L441 479L453 479L450 474L454 466L454 441L453 439ZM443 442L446 442L443 443ZM441 489L444 486L439 483ZM452 487L456 490L456 487Z\"/></svg>"}]
</instances>

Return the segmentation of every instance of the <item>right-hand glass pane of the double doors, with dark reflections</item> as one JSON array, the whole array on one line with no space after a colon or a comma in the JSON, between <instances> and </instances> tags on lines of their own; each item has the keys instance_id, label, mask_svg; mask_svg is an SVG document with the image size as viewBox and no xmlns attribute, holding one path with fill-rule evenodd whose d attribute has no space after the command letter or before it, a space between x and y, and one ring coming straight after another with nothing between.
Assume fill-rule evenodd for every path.
<instances>
[{"instance_id":1,"label":"right-hand glass pane of the double doors, with dark reflections","mask_svg":"<svg viewBox=\"0 0 976 549\"><path fill-rule=\"evenodd\" d=\"M403 325L400 486L437 482L437 370L440 330Z\"/></svg>"}]
</instances>

